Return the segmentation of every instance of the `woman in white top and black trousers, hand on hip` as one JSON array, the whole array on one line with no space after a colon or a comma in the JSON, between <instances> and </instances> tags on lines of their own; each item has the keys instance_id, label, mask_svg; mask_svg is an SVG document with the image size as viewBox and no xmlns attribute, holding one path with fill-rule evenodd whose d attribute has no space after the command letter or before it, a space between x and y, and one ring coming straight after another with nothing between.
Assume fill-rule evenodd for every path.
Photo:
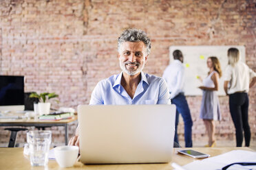
<instances>
[{"instance_id":1,"label":"woman in white top and black trousers, hand on hip","mask_svg":"<svg viewBox=\"0 0 256 170\"><path fill-rule=\"evenodd\" d=\"M245 138L246 147L250 146L250 126L248 123L248 91L256 82L256 73L239 61L239 51L228 49L228 66L224 73L224 90L229 96L229 110L235 125L237 147L242 147ZM250 82L250 79L253 79ZM244 131L244 137L243 137Z\"/></svg>"}]
</instances>

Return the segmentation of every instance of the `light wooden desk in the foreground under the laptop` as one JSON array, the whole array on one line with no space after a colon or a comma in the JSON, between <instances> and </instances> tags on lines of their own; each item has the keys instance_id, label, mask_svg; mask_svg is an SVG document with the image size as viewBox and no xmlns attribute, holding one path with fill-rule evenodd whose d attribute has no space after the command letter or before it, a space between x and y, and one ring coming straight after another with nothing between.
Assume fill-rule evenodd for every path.
<instances>
[{"instance_id":1,"label":"light wooden desk in the foreground under the laptop","mask_svg":"<svg viewBox=\"0 0 256 170\"><path fill-rule=\"evenodd\" d=\"M181 148L178 148L181 149ZM178 149L174 149L175 151ZM182 148L184 149L184 148ZM248 147L213 147L213 148L206 148L206 147L194 147L195 151L201 151L205 154L210 154L211 156L217 156L219 154L224 154L227 151L231 151L234 149L244 149L248 151L252 151L252 149ZM176 162L179 165L186 165L189 162L195 160L194 158L190 158L181 154L175 154L173 151L173 160L172 162ZM28 157L23 155L23 148L21 147L14 147L14 148L3 148L0 147L0 169L64 169L58 166L56 160L49 160L47 167L31 167L30 160ZM81 162L76 162L74 167L68 168L72 169L147 169L147 170L155 170L155 169L173 169L170 163L162 163L162 164L122 164L122 165L83 165Z\"/></svg>"}]
</instances>

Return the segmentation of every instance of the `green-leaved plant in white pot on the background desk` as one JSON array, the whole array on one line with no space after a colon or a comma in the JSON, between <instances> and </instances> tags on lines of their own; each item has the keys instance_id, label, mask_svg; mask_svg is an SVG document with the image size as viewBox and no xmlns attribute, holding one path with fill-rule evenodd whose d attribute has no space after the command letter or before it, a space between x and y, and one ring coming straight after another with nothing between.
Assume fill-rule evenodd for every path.
<instances>
[{"instance_id":1,"label":"green-leaved plant in white pot on the background desk","mask_svg":"<svg viewBox=\"0 0 256 170\"><path fill-rule=\"evenodd\" d=\"M39 99L39 104L38 104L38 112L40 115L43 114L49 114L50 113L50 102L46 102L49 99L52 99L54 97L58 97L55 93L41 93L40 95L37 93L31 93L30 97L36 97Z\"/></svg>"}]
</instances>

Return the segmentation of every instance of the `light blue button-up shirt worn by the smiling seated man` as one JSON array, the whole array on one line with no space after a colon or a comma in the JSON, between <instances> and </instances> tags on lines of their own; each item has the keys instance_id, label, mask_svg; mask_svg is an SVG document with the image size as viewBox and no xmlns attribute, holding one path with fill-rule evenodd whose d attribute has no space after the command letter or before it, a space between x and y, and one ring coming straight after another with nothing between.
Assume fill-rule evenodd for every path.
<instances>
[{"instance_id":1,"label":"light blue button-up shirt worn by the smiling seated man","mask_svg":"<svg viewBox=\"0 0 256 170\"><path fill-rule=\"evenodd\" d=\"M155 75L141 72L141 80L134 98L121 86L122 72L98 82L92 92L90 105L129 105L129 104L171 104L167 83Z\"/></svg>"}]
</instances>

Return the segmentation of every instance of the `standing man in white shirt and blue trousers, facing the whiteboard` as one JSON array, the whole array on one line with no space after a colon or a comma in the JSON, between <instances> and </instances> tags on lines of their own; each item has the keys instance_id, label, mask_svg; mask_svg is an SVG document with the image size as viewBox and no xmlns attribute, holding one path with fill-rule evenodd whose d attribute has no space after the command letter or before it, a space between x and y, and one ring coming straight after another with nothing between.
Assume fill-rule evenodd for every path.
<instances>
[{"instance_id":1,"label":"standing man in white shirt and blue trousers, facing the whiteboard","mask_svg":"<svg viewBox=\"0 0 256 170\"><path fill-rule=\"evenodd\" d=\"M184 66L183 55L180 50L173 51L173 59L167 69L165 69L162 77L167 81L168 88L171 95L171 103L176 106L176 120L175 120L175 136L174 141L179 143L177 128L179 123L179 113L182 114L184 121L184 136L186 147L192 147L192 119L189 110L189 105L184 96Z\"/></svg>"}]
</instances>

